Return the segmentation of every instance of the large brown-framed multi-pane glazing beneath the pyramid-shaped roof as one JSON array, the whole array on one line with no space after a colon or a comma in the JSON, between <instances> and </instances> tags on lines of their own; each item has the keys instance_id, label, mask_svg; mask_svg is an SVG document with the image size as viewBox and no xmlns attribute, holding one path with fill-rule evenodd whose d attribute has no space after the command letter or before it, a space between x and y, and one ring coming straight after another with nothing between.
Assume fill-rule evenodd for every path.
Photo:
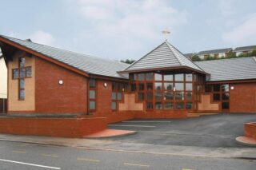
<instances>
[{"instance_id":1,"label":"large brown-framed multi-pane glazing beneath the pyramid-shaped roof","mask_svg":"<svg viewBox=\"0 0 256 170\"><path fill-rule=\"evenodd\" d=\"M146 110L194 109L195 80L192 73L131 73L130 91Z\"/></svg>"}]
</instances>

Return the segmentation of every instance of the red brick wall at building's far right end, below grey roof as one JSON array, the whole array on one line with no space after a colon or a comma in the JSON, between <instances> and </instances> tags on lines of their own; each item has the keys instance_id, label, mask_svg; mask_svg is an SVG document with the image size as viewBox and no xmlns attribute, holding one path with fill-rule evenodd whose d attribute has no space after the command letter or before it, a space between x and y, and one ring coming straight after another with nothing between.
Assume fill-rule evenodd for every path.
<instances>
[{"instance_id":1,"label":"red brick wall at building's far right end, below grey roof","mask_svg":"<svg viewBox=\"0 0 256 170\"><path fill-rule=\"evenodd\" d=\"M230 113L256 113L256 83L230 84Z\"/></svg>"}]
</instances>

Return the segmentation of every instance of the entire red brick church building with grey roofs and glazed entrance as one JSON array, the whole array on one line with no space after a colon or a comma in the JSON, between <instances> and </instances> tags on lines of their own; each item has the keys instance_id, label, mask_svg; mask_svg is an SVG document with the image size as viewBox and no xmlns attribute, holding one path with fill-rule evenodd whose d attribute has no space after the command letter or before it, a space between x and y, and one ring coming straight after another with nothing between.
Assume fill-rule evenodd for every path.
<instances>
[{"instance_id":1,"label":"entire red brick church building with grey roofs and glazed entrance","mask_svg":"<svg viewBox=\"0 0 256 170\"><path fill-rule=\"evenodd\" d=\"M127 65L1 35L7 115L186 118L256 113L256 57L190 61L169 42Z\"/></svg>"}]
</instances>

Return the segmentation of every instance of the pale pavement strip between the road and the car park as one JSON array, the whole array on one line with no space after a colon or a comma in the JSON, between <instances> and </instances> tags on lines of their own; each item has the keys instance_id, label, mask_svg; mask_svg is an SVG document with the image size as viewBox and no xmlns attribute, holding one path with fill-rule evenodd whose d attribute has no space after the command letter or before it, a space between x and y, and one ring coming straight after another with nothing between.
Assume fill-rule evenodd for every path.
<instances>
[{"instance_id":1,"label":"pale pavement strip between the road and the car park","mask_svg":"<svg viewBox=\"0 0 256 170\"><path fill-rule=\"evenodd\" d=\"M165 144L138 144L111 140L70 139L46 136L14 136L0 134L0 140L33 144L51 144L114 152L138 152L171 156L198 156L256 159L256 148L210 148Z\"/></svg>"}]
</instances>

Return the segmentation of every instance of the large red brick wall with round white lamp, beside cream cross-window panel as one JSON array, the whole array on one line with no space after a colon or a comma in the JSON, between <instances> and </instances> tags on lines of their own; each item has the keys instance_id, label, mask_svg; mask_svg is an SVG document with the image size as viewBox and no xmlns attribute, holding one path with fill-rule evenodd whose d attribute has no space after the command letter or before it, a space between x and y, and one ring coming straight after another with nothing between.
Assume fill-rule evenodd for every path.
<instances>
[{"instance_id":1,"label":"large red brick wall with round white lamp, beside cream cross-window panel","mask_svg":"<svg viewBox=\"0 0 256 170\"><path fill-rule=\"evenodd\" d=\"M86 113L86 86L86 77L35 57L35 113Z\"/></svg>"}]
</instances>

